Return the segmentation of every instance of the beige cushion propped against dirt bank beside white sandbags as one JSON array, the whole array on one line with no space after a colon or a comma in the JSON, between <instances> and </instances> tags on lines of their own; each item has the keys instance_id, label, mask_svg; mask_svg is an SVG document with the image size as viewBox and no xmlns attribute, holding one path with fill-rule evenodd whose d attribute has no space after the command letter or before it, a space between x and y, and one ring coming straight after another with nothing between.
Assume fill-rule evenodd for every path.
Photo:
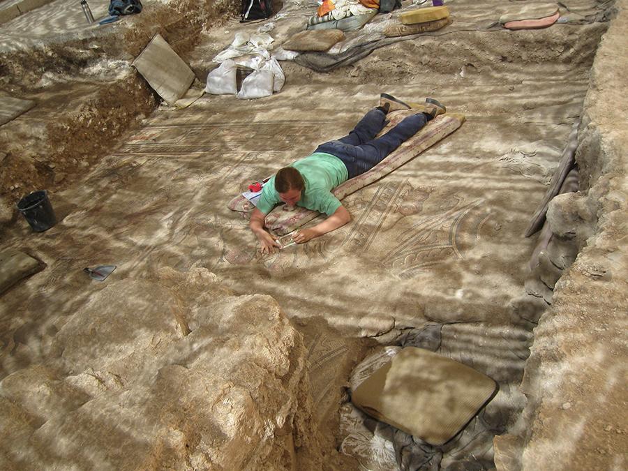
<instances>
[{"instance_id":1,"label":"beige cushion propped against dirt bank beside white sandbags","mask_svg":"<svg viewBox=\"0 0 628 471\"><path fill-rule=\"evenodd\" d=\"M160 34L144 48L133 66L168 105L174 105L194 82L195 75Z\"/></svg>"}]
</instances>

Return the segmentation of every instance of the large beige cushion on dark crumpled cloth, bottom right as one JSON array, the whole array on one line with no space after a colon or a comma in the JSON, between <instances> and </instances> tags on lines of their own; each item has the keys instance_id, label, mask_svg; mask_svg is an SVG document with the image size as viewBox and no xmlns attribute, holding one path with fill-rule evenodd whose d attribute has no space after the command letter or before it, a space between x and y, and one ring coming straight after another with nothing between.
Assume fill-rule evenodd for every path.
<instances>
[{"instance_id":1,"label":"large beige cushion on dark crumpled cloth, bottom right","mask_svg":"<svg viewBox=\"0 0 628 471\"><path fill-rule=\"evenodd\" d=\"M456 435L495 392L490 377L439 354L406 347L352 393L376 419L441 445Z\"/></svg>"}]
</instances>

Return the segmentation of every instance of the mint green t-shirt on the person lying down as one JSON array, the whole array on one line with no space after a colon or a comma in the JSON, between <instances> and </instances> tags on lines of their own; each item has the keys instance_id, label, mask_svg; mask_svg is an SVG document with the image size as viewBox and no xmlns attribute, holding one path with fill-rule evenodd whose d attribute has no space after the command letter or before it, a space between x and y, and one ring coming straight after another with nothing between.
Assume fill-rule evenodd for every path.
<instances>
[{"instance_id":1,"label":"mint green t-shirt on the person lying down","mask_svg":"<svg viewBox=\"0 0 628 471\"><path fill-rule=\"evenodd\" d=\"M342 206L338 198L331 194L331 190L349 178L349 172L342 160L331 154L315 152L290 166L299 170L306 184L297 206L314 209L327 216L331 216ZM281 198L275 189L275 177L272 177L264 185L257 209L269 214L278 203L281 203Z\"/></svg>"}]
</instances>

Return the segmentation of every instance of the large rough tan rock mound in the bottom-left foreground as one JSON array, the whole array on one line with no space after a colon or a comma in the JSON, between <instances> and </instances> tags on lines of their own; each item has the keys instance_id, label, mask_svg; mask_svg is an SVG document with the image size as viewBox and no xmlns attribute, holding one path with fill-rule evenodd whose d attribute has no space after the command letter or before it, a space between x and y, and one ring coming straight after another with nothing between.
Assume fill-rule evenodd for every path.
<instances>
[{"instance_id":1,"label":"large rough tan rock mound in the bottom-left foreground","mask_svg":"<svg viewBox=\"0 0 628 471\"><path fill-rule=\"evenodd\" d=\"M0 382L0 468L317 468L294 454L317 449L306 348L271 297L163 269L56 329Z\"/></svg>"}]
</instances>

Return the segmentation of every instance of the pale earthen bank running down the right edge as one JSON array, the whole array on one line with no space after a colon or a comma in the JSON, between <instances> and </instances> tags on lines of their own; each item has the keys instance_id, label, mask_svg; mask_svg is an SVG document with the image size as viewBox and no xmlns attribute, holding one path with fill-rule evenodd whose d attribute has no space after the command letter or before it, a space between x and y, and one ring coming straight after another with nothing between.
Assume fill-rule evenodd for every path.
<instances>
[{"instance_id":1,"label":"pale earthen bank running down the right edge","mask_svg":"<svg viewBox=\"0 0 628 471\"><path fill-rule=\"evenodd\" d=\"M507 470L625 469L628 435L628 1L603 36L578 137L580 191L548 213L553 230L583 241L534 329L519 433L495 438ZM589 231L591 231L589 233Z\"/></svg>"}]
</instances>

